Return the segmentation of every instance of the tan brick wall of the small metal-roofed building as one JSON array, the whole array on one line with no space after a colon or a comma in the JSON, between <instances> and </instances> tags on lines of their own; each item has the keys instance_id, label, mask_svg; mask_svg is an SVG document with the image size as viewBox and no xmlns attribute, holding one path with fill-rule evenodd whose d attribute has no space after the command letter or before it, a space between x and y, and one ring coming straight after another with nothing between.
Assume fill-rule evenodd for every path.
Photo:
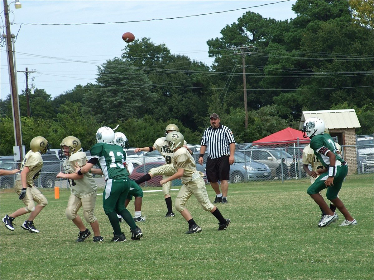
<instances>
[{"instance_id":1,"label":"tan brick wall of the small metal-roofed building","mask_svg":"<svg viewBox=\"0 0 374 280\"><path fill-rule=\"evenodd\" d=\"M343 133L343 145L356 145L356 128L330 129L330 133ZM344 160L348 163L348 174L357 172L357 150L355 147L345 147Z\"/></svg>"}]
</instances>

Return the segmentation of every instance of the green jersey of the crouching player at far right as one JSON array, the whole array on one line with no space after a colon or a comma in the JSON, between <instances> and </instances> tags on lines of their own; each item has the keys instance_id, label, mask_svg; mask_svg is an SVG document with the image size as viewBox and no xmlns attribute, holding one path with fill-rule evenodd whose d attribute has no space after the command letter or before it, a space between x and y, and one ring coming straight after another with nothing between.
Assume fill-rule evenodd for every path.
<instances>
[{"instance_id":1,"label":"green jersey of the crouching player at far right","mask_svg":"<svg viewBox=\"0 0 374 280\"><path fill-rule=\"evenodd\" d=\"M330 165L330 158L327 156L329 151L335 154L336 161L344 162L336 152L338 149L334 140L327 133L313 136L312 139L310 139L310 147L323 166ZM335 165L335 162L333 164Z\"/></svg>"}]
</instances>

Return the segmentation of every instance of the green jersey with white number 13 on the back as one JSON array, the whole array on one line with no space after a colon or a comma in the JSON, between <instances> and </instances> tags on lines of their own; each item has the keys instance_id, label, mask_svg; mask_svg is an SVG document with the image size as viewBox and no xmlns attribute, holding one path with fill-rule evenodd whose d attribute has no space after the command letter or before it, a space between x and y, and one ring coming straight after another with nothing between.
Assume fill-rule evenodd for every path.
<instances>
[{"instance_id":1,"label":"green jersey with white number 13 on the back","mask_svg":"<svg viewBox=\"0 0 374 280\"><path fill-rule=\"evenodd\" d=\"M126 153L121 146L107 143L97 143L91 147L91 158L97 158L97 165L104 173L105 181L109 179L126 179L129 177L123 163Z\"/></svg>"}]
</instances>

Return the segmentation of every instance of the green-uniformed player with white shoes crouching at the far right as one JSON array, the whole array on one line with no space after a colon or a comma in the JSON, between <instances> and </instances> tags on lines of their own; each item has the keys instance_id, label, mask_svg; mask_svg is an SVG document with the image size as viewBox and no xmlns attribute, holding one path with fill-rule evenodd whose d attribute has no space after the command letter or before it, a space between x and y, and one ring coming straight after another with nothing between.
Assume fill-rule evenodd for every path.
<instances>
[{"instance_id":1,"label":"green-uniformed player with white shoes crouching at the far right","mask_svg":"<svg viewBox=\"0 0 374 280\"><path fill-rule=\"evenodd\" d=\"M341 189L344 178L348 173L348 165L340 154L338 154L334 140L325 132L325 122L319 118L309 118L303 127L304 138L310 138L310 148L321 162L324 169L318 170L320 175L316 181L308 188L307 193L318 206L325 212L319 227L326 227L338 219L338 214L331 211L322 195L321 190L327 188L326 197L344 215L344 222L341 226L356 225L357 221L349 214L343 202L339 199L338 193Z\"/></svg>"}]
</instances>

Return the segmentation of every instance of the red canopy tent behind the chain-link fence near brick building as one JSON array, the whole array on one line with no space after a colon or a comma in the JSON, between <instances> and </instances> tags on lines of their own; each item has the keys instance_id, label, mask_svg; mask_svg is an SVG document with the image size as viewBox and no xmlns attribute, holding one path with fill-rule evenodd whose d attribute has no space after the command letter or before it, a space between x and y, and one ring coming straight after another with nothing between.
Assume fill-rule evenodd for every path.
<instances>
[{"instance_id":1,"label":"red canopy tent behind the chain-link fence near brick building","mask_svg":"<svg viewBox=\"0 0 374 280\"><path fill-rule=\"evenodd\" d=\"M300 130L287 127L281 131L270 134L269 136L266 136L263 139L253 141L252 143L258 145L289 144L297 143L297 139L299 139L299 143L301 144L307 144L310 141L309 138L303 137L303 133Z\"/></svg>"}]
</instances>

